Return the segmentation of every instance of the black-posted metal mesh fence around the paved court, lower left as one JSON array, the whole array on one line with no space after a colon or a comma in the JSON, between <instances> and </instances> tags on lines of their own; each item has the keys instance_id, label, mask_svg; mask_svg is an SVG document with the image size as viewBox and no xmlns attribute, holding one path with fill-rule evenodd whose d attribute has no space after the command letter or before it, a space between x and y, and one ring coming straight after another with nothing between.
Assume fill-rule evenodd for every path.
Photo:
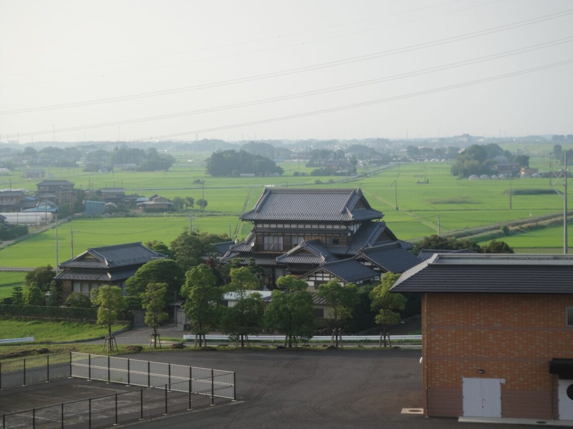
<instances>
[{"instance_id":1,"label":"black-posted metal mesh fence around the paved court, lower left","mask_svg":"<svg viewBox=\"0 0 573 429\"><path fill-rule=\"evenodd\" d=\"M66 377L144 388L3 414L2 429L104 427L236 399L235 373L210 368L77 352L0 365L0 388Z\"/></svg>"}]
</instances>

